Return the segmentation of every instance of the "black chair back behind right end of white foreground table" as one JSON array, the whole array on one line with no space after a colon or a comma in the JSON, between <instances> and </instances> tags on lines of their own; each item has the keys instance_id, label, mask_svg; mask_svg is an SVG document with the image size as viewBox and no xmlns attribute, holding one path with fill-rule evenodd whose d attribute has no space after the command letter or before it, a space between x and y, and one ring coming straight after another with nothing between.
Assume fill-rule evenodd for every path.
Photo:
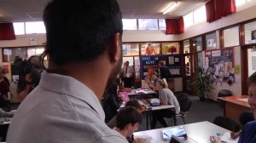
<instances>
[{"instance_id":1,"label":"black chair back behind right end of white foreground table","mask_svg":"<svg viewBox=\"0 0 256 143\"><path fill-rule=\"evenodd\" d=\"M218 116L214 119L213 123L224 129L229 129L233 132L238 132L240 130L239 123L236 123L236 121L232 120L229 117Z\"/></svg>"}]
</instances>

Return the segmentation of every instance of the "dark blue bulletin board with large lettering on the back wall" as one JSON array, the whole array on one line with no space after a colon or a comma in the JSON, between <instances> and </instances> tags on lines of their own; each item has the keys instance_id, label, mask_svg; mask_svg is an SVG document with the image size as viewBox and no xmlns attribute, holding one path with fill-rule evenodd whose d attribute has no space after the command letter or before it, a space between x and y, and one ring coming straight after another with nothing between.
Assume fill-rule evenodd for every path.
<instances>
[{"instance_id":1,"label":"dark blue bulletin board with large lettering on the back wall","mask_svg":"<svg viewBox=\"0 0 256 143\"><path fill-rule=\"evenodd\" d=\"M141 78L150 75L148 72L154 72L158 68L158 63L163 62L171 73L171 77L181 77L181 55L143 55L141 61Z\"/></svg>"}]
</instances>

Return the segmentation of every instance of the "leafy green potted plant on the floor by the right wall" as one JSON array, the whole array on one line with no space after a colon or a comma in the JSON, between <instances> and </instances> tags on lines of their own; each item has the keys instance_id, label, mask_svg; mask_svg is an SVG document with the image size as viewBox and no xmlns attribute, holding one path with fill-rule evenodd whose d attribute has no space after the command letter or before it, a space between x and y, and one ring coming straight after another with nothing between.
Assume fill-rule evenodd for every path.
<instances>
[{"instance_id":1,"label":"leafy green potted plant on the floor by the right wall","mask_svg":"<svg viewBox=\"0 0 256 143\"><path fill-rule=\"evenodd\" d=\"M204 100L213 87L213 78L210 74L207 74L204 68L198 67L195 78L192 80L191 87L194 89L200 100Z\"/></svg>"}]
</instances>

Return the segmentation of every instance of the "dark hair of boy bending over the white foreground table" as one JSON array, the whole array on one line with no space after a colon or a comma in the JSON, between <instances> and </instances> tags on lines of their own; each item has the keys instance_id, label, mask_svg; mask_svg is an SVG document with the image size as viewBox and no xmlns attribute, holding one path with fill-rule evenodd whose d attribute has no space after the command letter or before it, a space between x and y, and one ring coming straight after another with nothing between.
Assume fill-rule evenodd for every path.
<instances>
[{"instance_id":1,"label":"dark hair of boy bending over the white foreground table","mask_svg":"<svg viewBox=\"0 0 256 143\"><path fill-rule=\"evenodd\" d=\"M119 110L116 115L116 127L119 129L125 129L125 126L131 123L142 123L143 116L136 108L132 106L127 106Z\"/></svg>"}]
</instances>

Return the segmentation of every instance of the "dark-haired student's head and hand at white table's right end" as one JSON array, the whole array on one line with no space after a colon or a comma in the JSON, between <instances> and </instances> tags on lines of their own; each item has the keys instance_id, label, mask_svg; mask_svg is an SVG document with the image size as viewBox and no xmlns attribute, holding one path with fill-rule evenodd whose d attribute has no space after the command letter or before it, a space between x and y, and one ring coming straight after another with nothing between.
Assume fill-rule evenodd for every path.
<instances>
[{"instance_id":1,"label":"dark-haired student's head and hand at white table's right end","mask_svg":"<svg viewBox=\"0 0 256 143\"><path fill-rule=\"evenodd\" d=\"M239 117L239 122L241 126L244 127L245 124L254 121L253 112L242 112ZM236 139L241 135L241 130L239 132L231 132L230 136L232 139Z\"/></svg>"}]
</instances>

